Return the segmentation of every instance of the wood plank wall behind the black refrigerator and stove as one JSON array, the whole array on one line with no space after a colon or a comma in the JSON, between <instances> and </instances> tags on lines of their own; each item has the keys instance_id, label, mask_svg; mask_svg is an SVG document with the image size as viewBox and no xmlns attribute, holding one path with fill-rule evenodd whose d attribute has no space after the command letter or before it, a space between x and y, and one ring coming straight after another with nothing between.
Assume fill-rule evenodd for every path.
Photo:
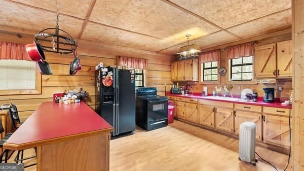
<instances>
[{"instance_id":1,"label":"wood plank wall behind the black refrigerator and stove","mask_svg":"<svg viewBox=\"0 0 304 171\"><path fill-rule=\"evenodd\" d=\"M28 44L33 42L33 36L0 31L0 41ZM42 94L32 95L1 95L0 104L14 103L24 121L42 102L52 101L53 92L63 92L82 87L89 92L85 102L95 109L95 65L103 62L104 66L116 65L117 56L129 56L148 59L146 71L146 86L157 87L159 94L164 94L164 85L172 85L171 60L172 56L148 52L132 48L107 45L102 43L79 40L78 54L82 70L75 76L69 76L69 63L72 55L60 55L46 52L46 60L53 71L52 76L42 76Z\"/></svg>"}]
</instances>

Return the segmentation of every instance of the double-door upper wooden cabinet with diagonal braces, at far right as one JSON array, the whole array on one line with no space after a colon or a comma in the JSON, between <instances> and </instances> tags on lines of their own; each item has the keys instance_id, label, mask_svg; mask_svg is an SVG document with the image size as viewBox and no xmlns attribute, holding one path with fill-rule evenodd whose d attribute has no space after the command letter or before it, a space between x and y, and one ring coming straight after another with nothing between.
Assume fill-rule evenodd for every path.
<instances>
[{"instance_id":1,"label":"double-door upper wooden cabinet with diagonal braces, at far right","mask_svg":"<svg viewBox=\"0 0 304 171\"><path fill-rule=\"evenodd\" d=\"M291 41L255 47L255 78L292 76Z\"/></svg>"}]
</instances>

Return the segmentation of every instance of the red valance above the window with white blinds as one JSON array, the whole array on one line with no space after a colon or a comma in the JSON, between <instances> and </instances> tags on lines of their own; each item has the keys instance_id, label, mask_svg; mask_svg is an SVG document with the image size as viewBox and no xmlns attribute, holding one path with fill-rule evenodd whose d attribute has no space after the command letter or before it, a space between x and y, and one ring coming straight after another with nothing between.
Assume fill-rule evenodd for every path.
<instances>
[{"instance_id":1,"label":"red valance above the window with white blinds","mask_svg":"<svg viewBox=\"0 0 304 171\"><path fill-rule=\"evenodd\" d=\"M25 44L0 42L0 59L29 60L25 52Z\"/></svg>"}]
</instances>

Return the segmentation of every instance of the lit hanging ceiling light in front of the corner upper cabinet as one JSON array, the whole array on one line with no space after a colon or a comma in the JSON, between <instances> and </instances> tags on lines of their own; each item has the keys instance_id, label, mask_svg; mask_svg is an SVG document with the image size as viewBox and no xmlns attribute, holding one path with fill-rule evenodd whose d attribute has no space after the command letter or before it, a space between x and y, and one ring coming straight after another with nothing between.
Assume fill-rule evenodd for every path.
<instances>
[{"instance_id":1,"label":"lit hanging ceiling light in front of the corner upper cabinet","mask_svg":"<svg viewBox=\"0 0 304 171\"><path fill-rule=\"evenodd\" d=\"M188 45L179 48L179 51L177 53L180 56L179 60L186 59L187 57L198 56L199 52L201 52L198 45L195 45L195 44L189 45L189 37L191 37L191 35L186 35L186 37L188 40Z\"/></svg>"}]
</instances>

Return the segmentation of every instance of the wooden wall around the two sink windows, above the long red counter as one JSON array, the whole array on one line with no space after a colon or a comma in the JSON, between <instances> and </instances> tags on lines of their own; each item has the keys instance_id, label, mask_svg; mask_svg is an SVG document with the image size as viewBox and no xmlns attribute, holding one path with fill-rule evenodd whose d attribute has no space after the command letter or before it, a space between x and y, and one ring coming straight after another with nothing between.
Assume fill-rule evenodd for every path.
<instances>
[{"instance_id":1,"label":"wooden wall around the two sink windows, above the long red counter","mask_svg":"<svg viewBox=\"0 0 304 171\"><path fill-rule=\"evenodd\" d=\"M255 46L261 46L261 45L267 45L267 44L272 44L276 42L281 42L281 41L286 41L286 40L291 40L291 33L285 33L280 36L275 36L267 39L262 39L262 40L256 40L257 44ZM252 40L254 41L254 40ZM217 49L217 47L214 47L212 49ZM221 49L221 61L220 61L220 66L225 67L228 71L228 61L226 59L226 53L224 49ZM186 85L190 84L194 86L194 92L202 92L203 91L203 86L207 86L208 93L212 93L214 90L215 86L220 86L223 85L224 83L229 84L229 74L228 72L226 73L225 76L220 76L220 84L198 84L197 82L179 82L179 85ZM291 84L291 79L280 79L277 81L276 84L252 84L252 85L234 85L233 90L231 91L233 94L240 95L242 90L245 88L250 88L250 89L255 89L258 92L258 96L263 96L264 91L262 90L263 87L273 87L277 88L278 86L283 87L283 91L279 92L276 91L275 96L276 97L286 97L289 98L291 89L292 89L292 84Z\"/></svg>"}]
</instances>

